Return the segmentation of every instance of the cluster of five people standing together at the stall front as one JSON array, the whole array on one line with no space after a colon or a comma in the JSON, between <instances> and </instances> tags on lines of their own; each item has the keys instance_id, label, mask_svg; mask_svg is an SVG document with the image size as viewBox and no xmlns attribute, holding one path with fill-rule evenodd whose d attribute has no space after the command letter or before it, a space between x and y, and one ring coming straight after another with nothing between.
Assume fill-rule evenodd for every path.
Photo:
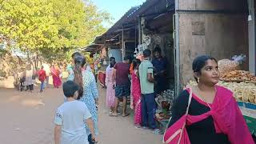
<instances>
[{"instance_id":1,"label":"cluster of five people standing together at the stall front","mask_svg":"<svg viewBox=\"0 0 256 144\"><path fill-rule=\"evenodd\" d=\"M153 59L151 61L151 59ZM127 97L130 96L130 108L134 109L134 126L150 129L154 134L160 134L154 119L156 94L167 89L166 58L162 58L161 49L144 50L143 57L123 58L123 62L115 62L110 58L110 66L106 68L106 105L110 109L110 116L117 117L119 102L122 102L122 117L126 113Z\"/></svg>"}]
</instances>

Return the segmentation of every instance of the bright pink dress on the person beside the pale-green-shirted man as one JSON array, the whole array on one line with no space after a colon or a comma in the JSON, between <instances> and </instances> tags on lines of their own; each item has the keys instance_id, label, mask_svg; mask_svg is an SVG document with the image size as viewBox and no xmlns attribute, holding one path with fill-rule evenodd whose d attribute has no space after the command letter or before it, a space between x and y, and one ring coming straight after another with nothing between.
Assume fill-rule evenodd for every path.
<instances>
[{"instance_id":1,"label":"bright pink dress on the person beside the pale-green-shirted man","mask_svg":"<svg viewBox=\"0 0 256 144\"><path fill-rule=\"evenodd\" d=\"M142 124L142 102L141 102L141 86L137 75L135 74L136 70L131 75L132 81L132 96L134 100L134 124Z\"/></svg>"}]
</instances>

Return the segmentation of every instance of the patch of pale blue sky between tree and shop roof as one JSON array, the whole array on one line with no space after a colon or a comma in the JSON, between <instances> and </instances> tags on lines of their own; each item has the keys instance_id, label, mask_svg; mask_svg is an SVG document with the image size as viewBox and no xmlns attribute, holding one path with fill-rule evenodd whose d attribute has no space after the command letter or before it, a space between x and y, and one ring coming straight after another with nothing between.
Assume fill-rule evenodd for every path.
<instances>
[{"instance_id":1,"label":"patch of pale blue sky between tree and shop roof","mask_svg":"<svg viewBox=\"0 0 256 144\"><path fill-rule=\"evenodd\" d=\"M106 10L114 18L113 24L118 21L122 15L126 14L133 6L139 6L146 0L92 0L99 10Z\"/></svg>"}]
</instances>

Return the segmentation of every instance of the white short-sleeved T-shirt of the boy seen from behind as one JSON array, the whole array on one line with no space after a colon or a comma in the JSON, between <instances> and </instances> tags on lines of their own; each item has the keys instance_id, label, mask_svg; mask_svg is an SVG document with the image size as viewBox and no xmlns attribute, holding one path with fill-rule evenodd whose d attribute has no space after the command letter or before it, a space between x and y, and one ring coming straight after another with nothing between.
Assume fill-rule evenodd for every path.
<instances>
[{"instance_id":1,"label":"white short-sleeved T-shirt of the boy seen from behind","mask_svg":"<svg viewBox=\"0 0 256 144\"><path fill-rule=\"evenodd\" d=\"M86 134L86 119L91 118L84 102L64 102L59 106L54 123L62 126L61 144L89 144Z\"/></svg>"}]
</instances>

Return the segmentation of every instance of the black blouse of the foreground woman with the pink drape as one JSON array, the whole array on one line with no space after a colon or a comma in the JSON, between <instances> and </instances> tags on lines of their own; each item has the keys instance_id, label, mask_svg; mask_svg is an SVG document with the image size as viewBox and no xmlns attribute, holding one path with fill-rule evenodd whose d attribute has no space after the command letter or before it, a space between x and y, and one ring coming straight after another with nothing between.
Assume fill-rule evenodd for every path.
<instances>
[{"instance_id":1,"label":"black blouse of the foreground woman with the pink drape","mask_svg":"<svg viewBox=\"0 0 256 144\"><path fill-rule=\"evenodd\" d=\"M186 113L190 94L183 90L174 102L172 107L172 118L168 127L178 121ZM209 111L208 106L204 106L194 98L192 98L189 108L190 115L200 115ZM230 144L226 134L216 134L214 120L210 116L200 122L195 122L190 126L186 126L187 133L191 144Z\"/></svg>"}]
</instances>

